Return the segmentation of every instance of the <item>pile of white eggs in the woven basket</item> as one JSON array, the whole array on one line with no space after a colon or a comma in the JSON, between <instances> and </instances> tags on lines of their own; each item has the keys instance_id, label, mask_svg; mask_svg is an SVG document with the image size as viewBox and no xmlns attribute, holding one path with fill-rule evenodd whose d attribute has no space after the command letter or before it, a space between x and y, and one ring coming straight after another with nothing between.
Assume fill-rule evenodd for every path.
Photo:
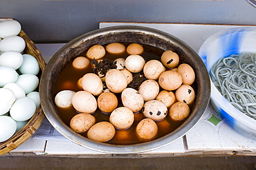
<instances>
[{"instance_id":1,"label":"pile of white eggs in the woven basket","mask_svg":"<svg viewBox=\"0 0 256 170\"><path fill-rule=\"evenodd\" d=\"M15 20L0 21L0 142L8 140L39 106L39 63L24 54L26 42Z\"/></svg>"}]
</instances>

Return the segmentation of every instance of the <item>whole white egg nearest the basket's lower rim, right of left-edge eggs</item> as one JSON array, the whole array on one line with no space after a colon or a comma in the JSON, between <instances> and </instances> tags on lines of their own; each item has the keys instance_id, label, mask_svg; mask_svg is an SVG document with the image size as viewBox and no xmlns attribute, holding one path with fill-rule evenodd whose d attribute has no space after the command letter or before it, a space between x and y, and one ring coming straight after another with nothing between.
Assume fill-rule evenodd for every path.
<instances>
[{"instance_id":1,"label":"whole white egg nearest the basket's lower rim, right of left-edge eggs","mask_svg":"<svg viewBox=\"0 0 256 170\"><path fill-rule=\"evenodd\" d=\"M31 98L18 98L10 108L10 116L16 121L25 121L35 114L36 109L37 106Z\"/></svg>"}]
</instances>

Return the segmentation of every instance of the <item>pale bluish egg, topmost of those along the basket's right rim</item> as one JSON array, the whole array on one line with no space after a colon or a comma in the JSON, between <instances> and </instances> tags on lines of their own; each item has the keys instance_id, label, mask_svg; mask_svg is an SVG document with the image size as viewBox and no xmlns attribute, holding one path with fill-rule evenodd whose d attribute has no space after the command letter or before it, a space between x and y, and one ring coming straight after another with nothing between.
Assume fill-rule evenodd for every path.
<instances>
[{"instance_id":1,"label":"pale bluish egg, topmost of those along the basket's right rim","mask_svg":"<svg viewBox=\"0 0 256 170\"><path fill-rule=\"evenodd\" d=\"M35 59L35 57L31 56L30 54L23 54L22 56L24 61L21 64L21 67L19 67L19 72L21 72L21 74L37 75L40 70L37 59Z\"/></svg>"}]
</instances>

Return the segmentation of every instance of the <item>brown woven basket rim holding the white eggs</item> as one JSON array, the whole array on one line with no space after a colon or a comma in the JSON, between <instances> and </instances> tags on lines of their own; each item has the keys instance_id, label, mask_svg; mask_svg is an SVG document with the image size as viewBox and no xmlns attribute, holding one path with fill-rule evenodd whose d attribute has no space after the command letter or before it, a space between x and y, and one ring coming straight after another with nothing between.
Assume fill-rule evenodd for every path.
<instances>
[{"instance_id":1,"label":"brown woven basket rim holding the white eggs","mask_svg":"<svg viewBox=\"0 0 256 170\"><path fill-rule=\"evenodd\" d=\"M21 36L25 42L26 42L26 48L24 50L24 54L30 54L37 59L39 66L40 66L40 72L37 74L38 78L41 78L42 72L44 71L44 68L46 66L46 63L42 57L41 52L37 50L37 47L35 47L35 44L33 41L31 41L28 36L25 34L23 30L19 32L19 36ZM12 151L13 149L16 149L24 143L30 136L32 136L35 131L39 128L39 126L42 124L42 121L44 120L44 113L42 111L41 105L37 108L37 111L33 115L32 118L28 121L28 123L19 131L17 131L16 134L14 134L10 139L6 140L5 142L0 142L0 156L8 153L9 151Z\"/></svg>"}]
</instances>

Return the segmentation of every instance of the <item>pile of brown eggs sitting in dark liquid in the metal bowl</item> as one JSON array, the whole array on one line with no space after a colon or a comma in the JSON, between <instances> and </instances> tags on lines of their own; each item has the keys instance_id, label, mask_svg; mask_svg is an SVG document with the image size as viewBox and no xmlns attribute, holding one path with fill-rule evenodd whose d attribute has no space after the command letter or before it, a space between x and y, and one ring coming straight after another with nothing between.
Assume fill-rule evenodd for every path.
<instances>
[{"instance_id":1,"label":"pile of brown eggs sitting in dark liquid in the metal bowl","mask_svg":"<svg viewBox=\"0 0 256 170\"><path fill-rule=\"evenodd\" d=\"M141 141L153 140L158 134L157 122L166 116L174 121L188 118L195 92L192 84L195 74L192 67L180 63L179 55L172 50L163 52L160 60L145 61L143 45L122 43L93 45L85 56L77 56L73 67L93 67L104 61L108 54L127 53L128 56L113 61L115 67L106 72L89 72L77 80L82 90L62 90L55 96L57 107L73 107L78 114L73 116L70 127L78 133L86 132L92 140L107 142L120 130L129 129L138 113L143 119L136 125L136 135ZM129 86L136 81L134 75L145 77L138 88ZM120 99L119 99L120 97ZM109 121L96 122L92 114L100 109L109 114Z\"/></svg>"}]
</instances>

